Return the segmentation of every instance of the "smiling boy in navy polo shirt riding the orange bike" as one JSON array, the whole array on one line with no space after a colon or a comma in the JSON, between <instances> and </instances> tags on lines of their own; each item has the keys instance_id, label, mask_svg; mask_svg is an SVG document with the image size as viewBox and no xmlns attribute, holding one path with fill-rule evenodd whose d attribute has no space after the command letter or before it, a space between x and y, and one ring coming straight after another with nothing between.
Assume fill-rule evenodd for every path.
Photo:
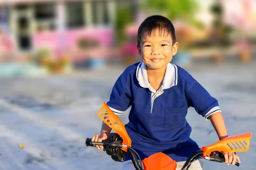
<instances>
[{"instance_id":1,"label":"smiling boy in navy polo shirt riding the orange bike","mask_svg":"<svg viewBox=\"0 0 256 170\"><path fill-rule=\"evenodd\" d=\"M132 148L143 160L163 152L177 162L180 169L187 157L199 150L189 138L191 127L185 119L189 107L210 119L219 139L227 137L218 101L183 68L172 65L178 43L171 21L153 15L141 23L138 51L143 62L129 66L117 79L107 105L118 116L131 106L129 122L125 125ZM92 141L107 139L111 128L104 122L100 133ZM103 149L102 146L96 146ZM223 153L227 164L240 159L234 153ZM122 170L134 170L129 156L122 162ZM195 161L189 170L202 170Z\"/></svg>"}]
</instances>

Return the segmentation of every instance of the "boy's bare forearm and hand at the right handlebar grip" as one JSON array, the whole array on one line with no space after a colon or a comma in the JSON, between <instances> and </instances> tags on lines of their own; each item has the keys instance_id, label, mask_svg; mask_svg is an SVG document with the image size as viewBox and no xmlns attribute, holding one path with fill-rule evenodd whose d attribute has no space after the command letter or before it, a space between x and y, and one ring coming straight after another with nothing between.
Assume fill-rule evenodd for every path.
<instances>
[{"instance_id":1,"label":"boy's bare forearm and hand at the right handlebar grip","mask_svg":"<svg viewBox=\"0 0 256 170\"><path fill-rule=\"evenodd\" d=\"M218 134L218 138L221 140L227 137L227 128L223 119L221 112L214 113L209 116L210 121L212 122L212 126L214 127L216 133ZM233 152L221 152L225 157L225 162L229 164L235 164L236 160L241 163L239 156L237 156Z\"/></svg>"}]
</instances>

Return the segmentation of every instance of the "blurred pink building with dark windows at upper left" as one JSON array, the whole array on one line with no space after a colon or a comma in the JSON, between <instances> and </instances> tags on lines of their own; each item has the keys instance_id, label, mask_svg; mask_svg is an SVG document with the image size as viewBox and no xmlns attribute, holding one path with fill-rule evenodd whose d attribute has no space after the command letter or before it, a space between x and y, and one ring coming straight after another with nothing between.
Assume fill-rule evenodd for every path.
<instances>
[{"instance_id":1,"label":"blurred pink building with dark windows at upper left","mask_svg":"<svg viewBox=\"0 0 256 170\"><path fill-rule=\"evenodd\" d=\"M113 45L113 0L6 0L0 9L0 30L16 53L49 48L85 57L86 48Z\"/></svg>"}]
</instances>

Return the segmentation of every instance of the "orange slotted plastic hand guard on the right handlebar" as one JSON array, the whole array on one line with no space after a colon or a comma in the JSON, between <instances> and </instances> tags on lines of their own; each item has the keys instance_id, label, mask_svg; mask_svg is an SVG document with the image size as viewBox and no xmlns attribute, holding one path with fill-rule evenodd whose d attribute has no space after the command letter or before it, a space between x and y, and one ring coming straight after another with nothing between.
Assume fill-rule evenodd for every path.
<instances>
[{"instance_id":1,"label":"orange slotted plastic hand guard on the right handlebar","mask_svg":"<svg viewBox=\"0 0 256 170\"><path fill-rule=\"evenodd\" d=\"M249 149L250 138L252 133L244 133L236 136L229 136L215 144L201 147L204 151L204 156L209 156L213 151L223 151L223 152L245 152Z\"/></svg>"}]
</instances>

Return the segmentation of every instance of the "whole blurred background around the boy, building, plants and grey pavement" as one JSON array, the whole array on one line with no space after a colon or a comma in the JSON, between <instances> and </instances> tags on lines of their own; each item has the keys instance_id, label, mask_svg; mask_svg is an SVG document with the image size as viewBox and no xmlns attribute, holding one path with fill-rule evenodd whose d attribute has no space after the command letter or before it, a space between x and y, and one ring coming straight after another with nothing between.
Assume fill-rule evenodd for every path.
<instances>
[{"instance_id":1,"label":"whole blurred background around the boy, building, plants and grey pavement","mask_svg":"<svg viewBox=\"0 0 256 170\"><path fill-rule=\"evenodd\" d=\"M0 170L121 167L84 140L99 132L96 113L116 79L140 62L137 29L152 14L174 24L172 63L219 100L229 134L255 132L255 0L0 0ZM192 139L216 142L197 116L189 110ZM254 169L251 146L240 169Z\"/></svg>"}]
</instances>

